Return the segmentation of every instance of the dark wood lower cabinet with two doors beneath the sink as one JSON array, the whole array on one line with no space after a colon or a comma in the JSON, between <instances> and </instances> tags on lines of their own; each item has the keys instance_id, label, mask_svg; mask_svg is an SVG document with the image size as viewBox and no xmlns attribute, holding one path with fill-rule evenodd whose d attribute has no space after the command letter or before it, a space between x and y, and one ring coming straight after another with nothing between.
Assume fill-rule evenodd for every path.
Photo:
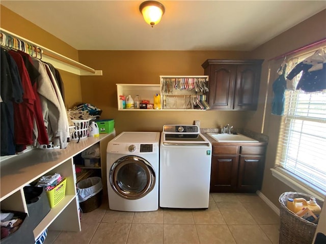
<instances>
[{"instance_id":1,"label":"dark wood lower cabinet with two doors beneath the sink","mask_svg":"<svg viewBox=\"0 0 326 244\"><path fill-rule=\"evenodd\" d=\"M229 153L232 155L227 155ZM211 164L210 192L256 192L260 190L265 146L215 146Z\"/></svg>"}]
</instances>

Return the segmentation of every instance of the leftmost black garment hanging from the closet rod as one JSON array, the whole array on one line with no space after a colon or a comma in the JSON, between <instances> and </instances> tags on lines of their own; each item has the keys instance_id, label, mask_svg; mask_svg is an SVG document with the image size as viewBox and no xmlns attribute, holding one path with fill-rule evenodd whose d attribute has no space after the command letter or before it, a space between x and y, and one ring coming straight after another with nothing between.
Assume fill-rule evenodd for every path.
<instances>
[{"instance_id":1,"label":"leftmost black garment hanging from the closet rod","mask_svg":"<svg viewBox=\"0 0 326 244\"><path fill-rule=\"evenodd\" d=\"M14 155L14 107L13 102L21 103L23 89L17 65L7 51L1 48L1 156Z\"/></svg>"}]
</instances>

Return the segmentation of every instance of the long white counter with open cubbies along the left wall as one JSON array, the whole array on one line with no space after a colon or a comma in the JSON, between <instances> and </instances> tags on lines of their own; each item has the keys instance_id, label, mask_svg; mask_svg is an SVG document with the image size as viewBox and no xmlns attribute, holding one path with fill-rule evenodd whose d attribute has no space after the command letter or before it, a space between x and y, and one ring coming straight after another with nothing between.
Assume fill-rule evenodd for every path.
<instances>
[{"instance_id":1,"label":"long white counter with open cubbies along the left wall","mask_svg":"<svg viewBox=\"0 0 326 244\"><path fill-rule=\"evenodd\" d=\"M33 149L0 162L1 208L27 212L23 187L43 175L60 173L66 181L66 194L34 229L35 239L48 228L51 230L80 231L78 199L76 198L76 182L74 179L73 157L95 143L100 143L103 189L106 185L106 145L113 139L115 132L100 134L99 137L88 137L71 141L66 149L42 150ZM106 189L106 186L105 186Z\"/></svg>"}]
</instances>

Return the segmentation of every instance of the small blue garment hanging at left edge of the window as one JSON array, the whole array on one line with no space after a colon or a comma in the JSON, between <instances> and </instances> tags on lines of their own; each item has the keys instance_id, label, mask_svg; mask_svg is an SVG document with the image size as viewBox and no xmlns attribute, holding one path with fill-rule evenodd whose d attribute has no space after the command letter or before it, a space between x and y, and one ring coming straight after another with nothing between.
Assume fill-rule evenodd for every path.
<instances>
[{"instance_id":1,"label":"small blue garment hanging at left edge of the window","mask_svg":"<svg viewBox=\"0 0 326 244\"><path fill-rule=\"evenodd\" d=\"M282 74L273 82L274 99L271 105L271 113L276 115L283 115L284 112L284 93L286 89L285 70L286 65L283 67Z\"/></svg>"}]
</instances>

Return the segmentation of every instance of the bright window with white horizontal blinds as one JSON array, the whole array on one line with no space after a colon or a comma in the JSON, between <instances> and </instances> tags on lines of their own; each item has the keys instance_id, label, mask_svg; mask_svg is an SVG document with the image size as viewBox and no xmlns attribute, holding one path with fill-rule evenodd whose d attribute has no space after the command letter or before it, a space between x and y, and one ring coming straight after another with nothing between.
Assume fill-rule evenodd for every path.
<instances>
[{"instance_id":1,"label":"bright window with white horizontal blinds","mask_svg":"<svg viewBox=\"0 0 326 244\"><path fill-rule=\"evenodd\" d=\"M294 181L326 194L326 93L286 90L276 162Z\"/></svg>"}]
</instances>

